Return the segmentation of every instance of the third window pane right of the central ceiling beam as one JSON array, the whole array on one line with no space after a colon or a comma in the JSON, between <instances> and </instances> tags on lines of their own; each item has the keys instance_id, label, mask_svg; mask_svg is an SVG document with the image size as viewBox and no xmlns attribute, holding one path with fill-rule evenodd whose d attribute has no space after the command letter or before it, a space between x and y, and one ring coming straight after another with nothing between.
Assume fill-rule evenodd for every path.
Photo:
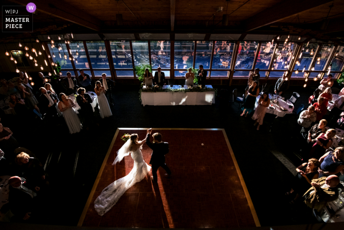
<instances>
[{"instance_id":1,"label":"third window pane right of the central ceiling beam","mask_svg":"<svg viewBox=\"0 0 344 230\"><path fill-rule=\"evenodd\" d=\"M212 68L230 68L234 50L234 43L229 41L215 41ZM212 74L211 74L212 75Z\"/></svg>"}]
</instances>

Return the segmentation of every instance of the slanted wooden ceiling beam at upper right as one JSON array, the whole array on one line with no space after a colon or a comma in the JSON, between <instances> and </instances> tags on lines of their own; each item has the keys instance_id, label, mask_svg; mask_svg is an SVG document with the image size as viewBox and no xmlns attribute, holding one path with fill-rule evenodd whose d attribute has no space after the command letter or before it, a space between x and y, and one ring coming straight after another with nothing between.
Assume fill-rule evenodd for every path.
<instances>
[{"instance_id":1,"label":"slanted wooden ceiling beam at upper right","mask_svg":"<svg viewBox=\"0 0 344 230\"><path fill-rule=\"evenodd\" d=\"M252 31L331 1L333 0L284 0L246 19L243 25L246 32Z\"/></svg>"}]
</instances>

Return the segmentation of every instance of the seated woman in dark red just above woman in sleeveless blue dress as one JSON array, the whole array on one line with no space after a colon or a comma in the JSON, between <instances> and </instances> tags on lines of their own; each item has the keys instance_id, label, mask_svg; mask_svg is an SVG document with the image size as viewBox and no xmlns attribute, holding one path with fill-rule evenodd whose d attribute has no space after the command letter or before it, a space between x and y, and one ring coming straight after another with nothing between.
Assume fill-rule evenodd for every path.
<instances>
[{"instance_id":1,"label":"seated woman in dark red just above woman in sleeveless blue dress","mask_svg":"<svg viewBox=\"0 0 344 230\"><path fill-rule=\"evenodd\" d=\"M310 151L309 158L320 159L325 150L333 144L332 137L336 135L336 130L329 129L326 133L321 133L315 138L315 143Z\"/></svg>"}]
</instances>

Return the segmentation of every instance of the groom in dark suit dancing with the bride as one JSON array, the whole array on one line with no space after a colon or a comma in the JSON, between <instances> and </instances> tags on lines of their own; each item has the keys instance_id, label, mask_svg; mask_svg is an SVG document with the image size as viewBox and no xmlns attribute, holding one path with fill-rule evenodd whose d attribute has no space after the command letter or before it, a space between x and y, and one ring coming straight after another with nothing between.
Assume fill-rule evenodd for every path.
<instances>
[{"instance_id":1,"label":"groom in dark suit dancing with the bride","mask_svg":"<svg viewBox=\"0 0 344 230\"><path fill-rule=\"evenodd\" d=\"M152 133L152 129L147 130L146 144L153 150L149 164L152 165L153 176L151 176L151 178L154 182L157 182L158 175L156 172L160 166L166 170L166 176L172 174L170 168L165 164L165 154L169 153L169 143L161 140L162 135L159 132L153 134L154 143L151 143L149 141L150 133Z\"/></svg>"}]
</instances>

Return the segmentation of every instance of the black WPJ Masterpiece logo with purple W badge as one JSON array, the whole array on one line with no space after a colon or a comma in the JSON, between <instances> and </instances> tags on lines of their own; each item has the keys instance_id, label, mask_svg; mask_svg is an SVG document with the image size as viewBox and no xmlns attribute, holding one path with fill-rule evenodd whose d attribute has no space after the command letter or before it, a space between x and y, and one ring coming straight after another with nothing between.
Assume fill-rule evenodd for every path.
<instances>
[{"instance_id":1,"label":"black WPJ Masterpiece logo with purple W badge","mask_svg":"<svg viewBox=\"0 0 344 230\"><path fill-rule=\"evenodd\" d=\"M36 5L3 5L2 6L2 32L24 33L33 31L33 12Z\"/></svg>"}]
</instances>

